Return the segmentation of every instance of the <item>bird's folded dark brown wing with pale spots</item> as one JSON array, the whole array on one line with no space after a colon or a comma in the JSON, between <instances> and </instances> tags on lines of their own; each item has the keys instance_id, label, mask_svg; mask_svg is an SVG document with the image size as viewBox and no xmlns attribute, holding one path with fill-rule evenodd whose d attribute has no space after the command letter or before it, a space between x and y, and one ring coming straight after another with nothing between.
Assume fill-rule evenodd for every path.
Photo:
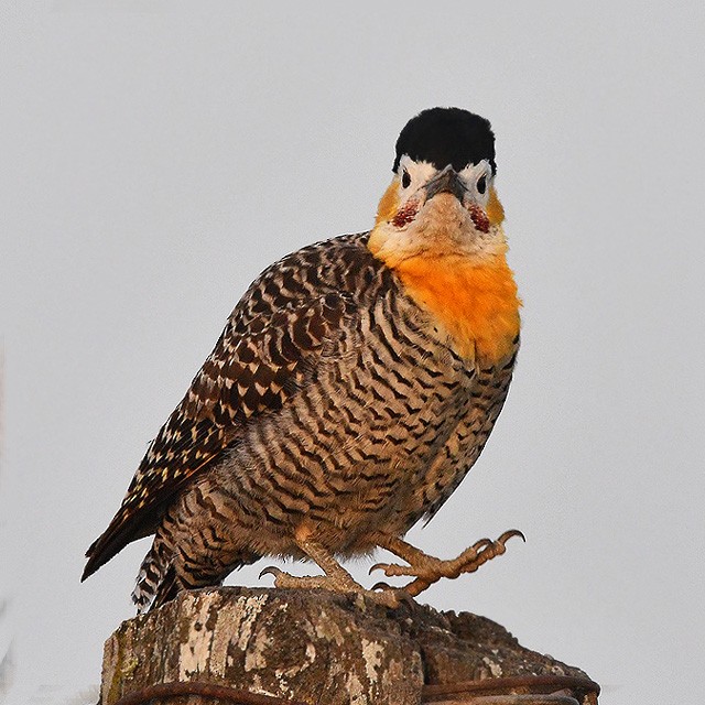
<instances>
[{"instance_id":1,"label":"bird's folded dark brown wing with pale spots","mask_svg":"<svg viewBox=\"0 0 705 705\"><path fill-rule=\"evenodd\" d=\"M88 549L85 579L128 543L154 531L165 505L237 442L249 420L276 413L311 379L321 349L355 308L329 293L283 310L236 308L191 389L151 443L118 513Z\"/></svg>"}]
</instances>

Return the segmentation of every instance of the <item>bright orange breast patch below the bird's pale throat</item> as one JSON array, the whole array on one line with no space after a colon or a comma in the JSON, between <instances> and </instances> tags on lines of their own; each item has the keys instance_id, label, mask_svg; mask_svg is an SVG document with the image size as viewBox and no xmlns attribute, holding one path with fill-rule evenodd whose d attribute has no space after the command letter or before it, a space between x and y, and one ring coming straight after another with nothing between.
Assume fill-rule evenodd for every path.
<instances>
[{"instance_id":1,"label":"bright orange breast patch below the bird's pale throat","mask_svg":"<svg viewBox=\"0 0 705 705\"><path fill-rule=\"evenodd\" d=\"M425 254L394 270L406 293L449 334L458 355L486 366L511 352L521 302L503 256L478 262Z\"/></svg>"}]
</instances>

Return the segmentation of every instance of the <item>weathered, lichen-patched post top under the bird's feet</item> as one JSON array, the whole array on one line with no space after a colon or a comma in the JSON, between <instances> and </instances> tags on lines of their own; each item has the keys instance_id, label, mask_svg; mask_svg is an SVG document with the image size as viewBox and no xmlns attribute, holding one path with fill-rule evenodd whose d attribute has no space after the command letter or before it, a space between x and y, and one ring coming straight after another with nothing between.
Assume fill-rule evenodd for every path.
<instances>
[{"instance_id":1,"label":"weathered, lichen-patched post top under the bird's feet","mask_svg":"<svg viewBox=\"0 0 705 705\"><path fill-rule=\"evenodd\" d=\"M106 642L100 703L205 681L312 705L417 705L424 684L528 674L585 677L467 612L236 587L182 593L123 622Z\"/></svg>"}]
</instances>

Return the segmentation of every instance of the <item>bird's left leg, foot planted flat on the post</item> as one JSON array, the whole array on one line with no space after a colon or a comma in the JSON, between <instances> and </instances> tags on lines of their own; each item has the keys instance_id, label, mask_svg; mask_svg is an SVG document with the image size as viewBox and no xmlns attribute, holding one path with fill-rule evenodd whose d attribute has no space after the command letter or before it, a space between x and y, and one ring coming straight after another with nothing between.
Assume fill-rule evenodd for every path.
<instances>
[{"instance_id":1,"label":"bird's left leg, foot planted flat on the post","mask_svg":"<svg viewBox=\"0 0 705 705\"><path fill-rule=\"evenodd\" d=\"M365 589L355 578L336 561L333 554L319 543L311 539L296 539L296 545L314 561L325 575L290 575L275 566L264 568L262 575L273 575L274 586L281 588L323 588L334 593L356 593L370 597L376 603L387 607L399 607L402 599L409 599L408 595L397 589L380 592Z\"/></svg>"}]
</instances>

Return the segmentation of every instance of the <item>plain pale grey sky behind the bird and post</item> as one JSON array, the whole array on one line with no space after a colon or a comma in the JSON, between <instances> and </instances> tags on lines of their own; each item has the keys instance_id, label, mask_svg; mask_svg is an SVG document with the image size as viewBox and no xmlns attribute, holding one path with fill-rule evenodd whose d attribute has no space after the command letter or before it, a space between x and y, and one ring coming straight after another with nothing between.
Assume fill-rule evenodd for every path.
<instances>
[{"instance_id":1,"label":"plain pale grey sky behind the bird and post","mask_svg":"<svg viewBox=\"0 0 705 705\"><path fill-rule=\"evenodd\" d=\"M86 547L249 282L368 229L435 105L495 127L523 348L480 462L410 535L528 543L424 598L584 668L604 705L699 698L704 36L702 2L0 3L11 702L89 702L148 542L80 585Z\"/></svg>"}]
</instances>

